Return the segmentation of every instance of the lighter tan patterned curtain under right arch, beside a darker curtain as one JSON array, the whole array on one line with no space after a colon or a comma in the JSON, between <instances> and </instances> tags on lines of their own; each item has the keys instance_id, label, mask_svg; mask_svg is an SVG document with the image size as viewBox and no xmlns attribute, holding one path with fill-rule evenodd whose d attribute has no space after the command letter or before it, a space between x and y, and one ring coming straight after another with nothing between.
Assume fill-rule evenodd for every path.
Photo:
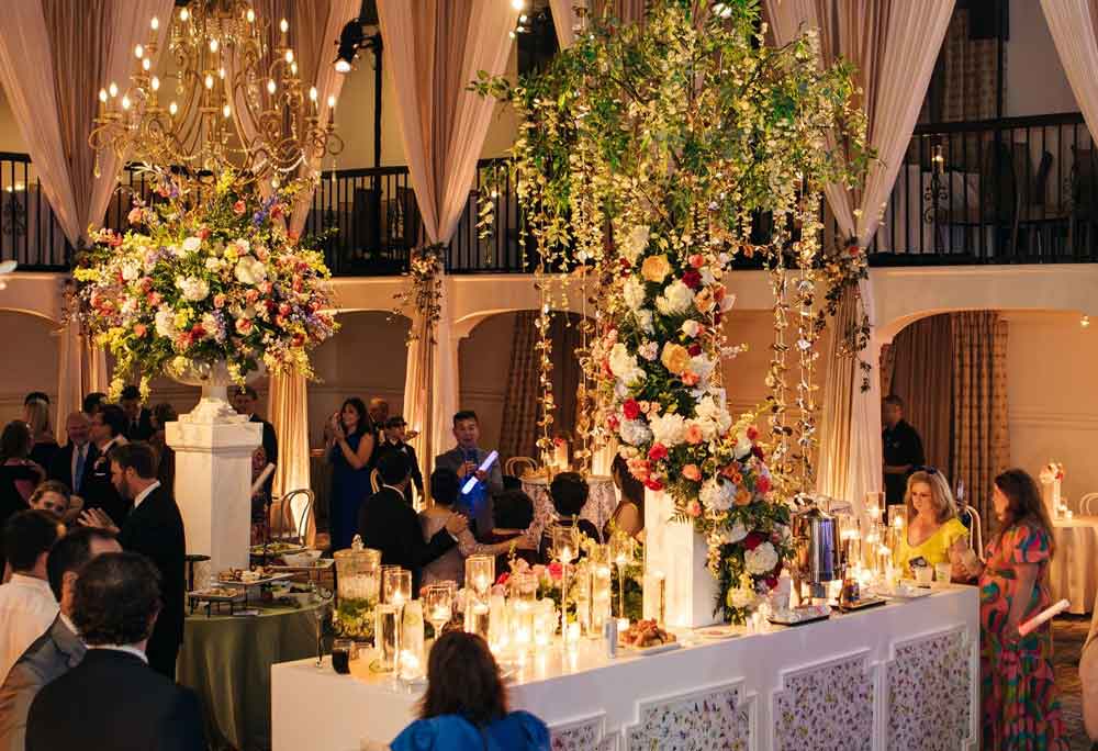
<instances>
[{"instance_id":1,"label":"lighter tan patterned curtain under right arch, beside a darker curtain","mask_svg":"<svg viewBox=\"0 0 1098 751\"><path fill-rule=\"evenodd\" d=\"M995 515L991 483L1010 461L1007 428L1007 323L996 311L950 314L953 339L953 456L950 477L985 530Z\"/></svg>"}]
</instances>

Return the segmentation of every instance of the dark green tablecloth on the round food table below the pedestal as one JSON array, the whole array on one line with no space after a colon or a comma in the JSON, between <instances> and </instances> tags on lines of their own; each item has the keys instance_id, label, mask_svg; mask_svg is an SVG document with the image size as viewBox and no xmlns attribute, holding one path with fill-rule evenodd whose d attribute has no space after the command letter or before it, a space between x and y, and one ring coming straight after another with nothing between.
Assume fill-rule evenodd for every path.
<instances>
[{"instance_id":1,"label":"dark green tablecloth on the round food table below the pedestal","mask_svg":"<svg viewBox=\"0 0 1098 751\"><path fill-rule=\"evenodd\" d=\"M314 609L188 616L177 679L198 692L212 748L270 748L271 665L316 654Z\"/></svg>"}]
</instances>

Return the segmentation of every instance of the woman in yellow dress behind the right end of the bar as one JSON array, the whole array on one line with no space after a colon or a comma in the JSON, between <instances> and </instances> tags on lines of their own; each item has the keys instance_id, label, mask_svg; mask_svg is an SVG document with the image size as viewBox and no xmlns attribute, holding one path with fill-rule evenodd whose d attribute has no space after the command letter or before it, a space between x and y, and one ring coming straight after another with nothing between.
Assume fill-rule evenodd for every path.
<instances>
[{"instance_id":1,"label":"woman in yellow dress behind the right end of the bar","mask_svg":"<svg viewBox=\"0 0 1098 751\"><path fill-rule=\"evenodd\" d=\"M942 473L928 468L914 472L904 495L908 525L900 538L896 565L909 571L921 558L926 565L950 562L950 547L968 534L957 518L953 493Z\"/></svg>"}]
</instances>

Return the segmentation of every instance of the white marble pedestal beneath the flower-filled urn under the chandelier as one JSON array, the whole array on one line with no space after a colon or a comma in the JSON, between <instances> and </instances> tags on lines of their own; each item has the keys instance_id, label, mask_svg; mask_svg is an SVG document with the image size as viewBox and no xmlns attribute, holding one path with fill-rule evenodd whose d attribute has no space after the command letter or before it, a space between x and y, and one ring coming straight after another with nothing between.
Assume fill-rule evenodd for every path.
<instances>
[{"instance_id":1,"label":"white marble pedestal beneath the flower-filled urn under the chandelier","mask_svg":"<svg viewBox=\"0 0 1098 751\"><path fill-rule=\"evenodd\" d=\"M211 393L213 392L213 393ZM188 554L210 556L206 571L247 569L251 537L251 455L262 426L236 414L225 389L206 386L193 412L168 423L176 451L176 502L183 516Z\"/></svg>"}]
</instances>

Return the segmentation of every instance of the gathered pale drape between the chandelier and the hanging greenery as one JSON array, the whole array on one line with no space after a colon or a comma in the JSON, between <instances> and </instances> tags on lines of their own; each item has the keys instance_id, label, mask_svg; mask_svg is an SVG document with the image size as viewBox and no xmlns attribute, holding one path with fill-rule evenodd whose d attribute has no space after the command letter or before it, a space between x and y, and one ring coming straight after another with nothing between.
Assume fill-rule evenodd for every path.
<instances>
[{"instance_id":1,"label":"gathered pale drape between the chandelier and the hanging greenery","mask_svg":"<svg viewBox=\"0 0 1098 751\"><path fill-rule=\"evenodd\" d=\"M448 243L457 228L495 108L466 88L479 70L503 72L517 16L511 3L497 0L378 0L401 139L429 243ZM412 322L416 338L404 383L404 418L421 430L413 442L424 473L452 442L450 418L458 408L458 350L445 278L441 289L434 339L427 322Z\"/></svg>"}]
</instances>

